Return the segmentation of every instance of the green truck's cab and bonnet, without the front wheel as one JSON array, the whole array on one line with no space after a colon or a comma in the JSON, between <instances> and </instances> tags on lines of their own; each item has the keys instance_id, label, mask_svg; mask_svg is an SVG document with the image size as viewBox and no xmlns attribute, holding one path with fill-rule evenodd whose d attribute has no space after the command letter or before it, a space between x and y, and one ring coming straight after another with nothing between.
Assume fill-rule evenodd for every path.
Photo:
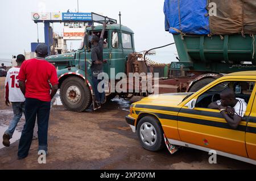
<instances>
[{"instance_id":1,"label":"green truck's cab and bonnet, without the front wheel","mask_svg":"<svg viewBox=\"0 0 256 181\"><path fill-rule=\"evenodd\" d=\"M84 71L82 62L85 57L89 63L87 68L91 63L90 37L92 35L100 36L101 31L102 26L86 28L84 40L76 52L48 56L46 60L55 65L57 70L61 70L58 71L59 76L63 73L63 69L68 71L68 68L75 67ZM116 73L125 72L125 61L128 55L134 51L134 32L126 26L108 24L104 34L104 60L107 60L104 64L104 72L109 73L110 68L115 68Z\"/></svg>"}]
</instances>

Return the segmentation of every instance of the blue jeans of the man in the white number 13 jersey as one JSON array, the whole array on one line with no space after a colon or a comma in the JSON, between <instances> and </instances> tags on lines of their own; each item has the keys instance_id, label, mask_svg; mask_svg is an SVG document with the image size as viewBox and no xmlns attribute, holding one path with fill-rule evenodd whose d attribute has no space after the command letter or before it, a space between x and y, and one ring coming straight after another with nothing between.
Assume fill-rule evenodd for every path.
<instances>
[{"instance_id":1,"label":"blue jeans of the man in the white number 13 jersey","mask_svg":"<svg viewBox=\"0 0 256 181\"><path fill-rule=\"evenodd\" d=\"M19 123L20 117L22 117L22 112L24 113L25 110L25 103L24 102L12 102L13 106L13 120L11 120L8 129L5 131L5 134L9 134L10 138L13 137L13 133L17 124Z\"/></svg>"}]
</instances>

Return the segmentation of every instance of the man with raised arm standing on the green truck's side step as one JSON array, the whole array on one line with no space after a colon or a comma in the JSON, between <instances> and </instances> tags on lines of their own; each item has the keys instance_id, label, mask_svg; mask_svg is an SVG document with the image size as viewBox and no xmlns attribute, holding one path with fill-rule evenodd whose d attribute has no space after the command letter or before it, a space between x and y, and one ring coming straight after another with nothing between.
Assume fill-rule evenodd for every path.
<instances>
[{"instance_id":1,"label":"man with raised arm standing on the green truck's side step","mask_svg":"<svg viewBox=\"0 0 256 181\"><path fill-rule=\"evenodd\" d=\"M101 79L98 79L98 74L103 72L103 37L106 29L106 23L103 23L100 38L97 35L92 36L92 81L94 90L94 102L97 104L97 108L101 107L101 104L105 103L105 92L104 90L98 90L98 83ZM102 87L104 89L104 87Z\"/></svg>"}]
</instances>

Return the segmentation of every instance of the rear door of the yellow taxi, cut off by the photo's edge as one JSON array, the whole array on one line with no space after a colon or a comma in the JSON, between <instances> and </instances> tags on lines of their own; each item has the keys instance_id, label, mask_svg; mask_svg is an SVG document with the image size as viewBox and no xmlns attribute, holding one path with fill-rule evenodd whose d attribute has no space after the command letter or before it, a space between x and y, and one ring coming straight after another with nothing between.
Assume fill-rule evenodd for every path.
<instances>
[{"instance_id":1,"label":"rear door of the yellow taxi, cut off by the photo's edge","mask_svg":"<svg viewBox=\"0 0 256 181\"><path fill-rule=\"evenodd\" d=\"M245 133L246 150L250 159L256 160L256 89L254 87L254 101L251 107L251 113L247 116L247 129ZM248 106L251 106L248 104Z\"/></svg>"}]
</instances>

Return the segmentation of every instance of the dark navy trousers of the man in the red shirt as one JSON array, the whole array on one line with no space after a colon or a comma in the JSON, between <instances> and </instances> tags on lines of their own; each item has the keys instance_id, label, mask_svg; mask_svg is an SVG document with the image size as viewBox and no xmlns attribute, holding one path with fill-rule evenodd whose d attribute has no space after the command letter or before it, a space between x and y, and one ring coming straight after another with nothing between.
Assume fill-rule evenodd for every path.
<instances>
[{"instance_id":1,"label":"dark navy trousers of the man in the red shirt","mask_svg":"<svg viewBox=\"0 0 256 181\"><path fill-rule=\"evenodd\" d=\"M38 99L26 98L25 118L22 135L19 140L18 157L27 157L30 150L36 117L38 119L38 150L47 152L47 134L51 102L43 102Z\"/></svg>"}]
</instances>

